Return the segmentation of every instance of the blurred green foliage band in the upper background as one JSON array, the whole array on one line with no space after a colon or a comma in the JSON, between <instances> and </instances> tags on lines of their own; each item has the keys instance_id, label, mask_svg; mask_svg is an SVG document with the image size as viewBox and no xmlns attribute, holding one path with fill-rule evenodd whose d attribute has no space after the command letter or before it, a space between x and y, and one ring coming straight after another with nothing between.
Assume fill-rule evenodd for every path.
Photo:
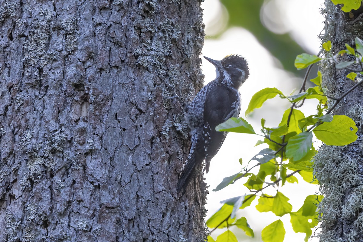
<instances>
[{"instance_id":1,"label":"blurred green foliage band in the upper background","mask_svg":"<svg viewBox=\"0 0 363 242\"><path fill-rule=\"evenodd\" d=\"M209 0L205 0L208 4ZM302 71L294 67L298 54L311 53L291 37L286 26L287 11L284 3L289 0L220 0L220 14L206 29L206 38L216 38L231 27L241 27L251 32L272 56L276 57L283 68L295 75L302 76ZM301 4L304 4L301 1ZM296 17L301 17L299 9L295 9Z\"/></svg>"}]
</instances>

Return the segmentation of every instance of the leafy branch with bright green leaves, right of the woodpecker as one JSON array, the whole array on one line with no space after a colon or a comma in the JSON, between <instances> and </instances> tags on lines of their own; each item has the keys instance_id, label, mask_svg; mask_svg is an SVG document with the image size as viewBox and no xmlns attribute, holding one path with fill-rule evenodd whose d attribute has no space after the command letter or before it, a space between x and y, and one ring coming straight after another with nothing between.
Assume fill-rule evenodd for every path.
<instances>
[{"instance_id":1,"label":"leafy branch with bright green leaves, right of the woodpecker","mask_svg":"<svg viewBox=\"0 0 363 242\"><path fill-rule=\"evenodd\" d=\"M246 218L241 217L236 220L236 213L239 209L244 209L249 206L254 198L259 196L260 198L256 205L258 211L271 211L279 217L290 214L291 225L294 231L305 233L305 241L309 239L312 233L311 229L318 223L318 212L315 213L315 204L322 199L322 196L307 196L304 205L298 211L291 212L292 206L288 203L289 198L279 191L279 187L284 186L286 181L291 183L297 182L297 178L294 177L296 173L299 173L307 182L317 183L317 181L313 180L312 171L312 159L316 152L313 146L313 134L315 134L317 139L327 145L347 145L357 139L355 133L358 128L351 118L345 115L331 115L344 97L363 84L363 79L357 77L358 72L363 74L363 41L359 38L355 39L356 50L347 44L346 47L346 50L341 50L337 54L333 54L331 42L328 41L323 43L323 49L325 50L325 57L323 58L318 57L321 53L318 56L309 54L298 55L295 60L295 67L297 69L307 68L307 71L302 85L296 94L285 95L275 87L266 87L253 95L245 112L246 116L256 108L260 108L268 99L276 96L291 103L290 108L284 112L278 127L266 127L265 119L262 119L260 129L262 135L260 135L243 118L231 118L216 127L217 131L260 135L264 139L258 141L257 144L268 145L268 148L262 149L250 159L248 164L252 161L257 162L251 168L242 168L240 172L230 177L225 177L217 188L213 189L214 191L220 190L229 184L234 184L239 179L247 178L247 181L243 185L250 193L222 201L224 204L221 209L207 221L207 226L212 228L210 233L217 228L237 226L244 230L247 235L253 237L253 230L249 227ZM344 54L348 58L351 58L351 60L354 59L354 61L339 62L339 56ZM311 67L319 61L335 63L338 69L344 68L352 71L347 75L347 78L351 79L354 85L340 95L340 97L330 97L326 94L327 89L322 85L322 74L318 71L318 76L310 79L315 86L306 89ZM316 99L318 101L317 113L315 115L305 117L303 112L298 109L303 106L306 99ZM240 163L242 164L241 159ZM253 173L253 169L257 167L259 168L258 173ZM287 171L291 172L289 173ZM266 181L267 177L270 177L272 182ZM264 190L270 186L276 189L276 195L269 196L264 193ZM258 193L262 194L258 195ZM309 210L311 212L302 213L303 210ZM272 231L279 231L281 235L285 234L284 225L281 220L271 223L262 230L262 240L277 242L284 240L284 236L274 237L276 233ZM228 230L217 238L217 242L225 241L226 236L232 238L234 234ZM214 240L209 236L208 241Z\"/></svg>"}]
</instances>

